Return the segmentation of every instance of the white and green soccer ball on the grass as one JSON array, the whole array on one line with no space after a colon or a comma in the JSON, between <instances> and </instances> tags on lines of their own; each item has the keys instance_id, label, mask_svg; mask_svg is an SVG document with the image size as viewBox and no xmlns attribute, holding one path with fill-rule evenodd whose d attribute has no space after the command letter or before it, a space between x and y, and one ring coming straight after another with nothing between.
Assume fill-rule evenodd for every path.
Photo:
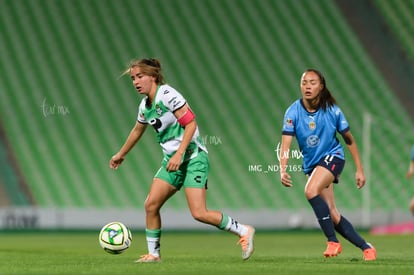
<instances>
[{"instance_id":1,"label":"white and green soccer ball on the grass","mask_svg":"<svg viewBox=\"0 0 414 275\"><path fill-rule=\"evenodd\" d=\"M110 222L104 225L99 233L99 244L111 254L124 252L131 242L131 231L121 222Z\"/></svg>"}]
</instances>

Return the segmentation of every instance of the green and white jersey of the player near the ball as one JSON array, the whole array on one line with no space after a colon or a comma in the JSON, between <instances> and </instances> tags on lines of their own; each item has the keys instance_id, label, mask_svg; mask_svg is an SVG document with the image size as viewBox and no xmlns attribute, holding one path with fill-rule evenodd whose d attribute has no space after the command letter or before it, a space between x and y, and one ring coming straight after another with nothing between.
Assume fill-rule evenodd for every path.
<instances>
[{"instance_id":1,"label":"green and white jersey of the player near the ball","mask_svg":"<svg viewBox=\"0 0 414 275\"><path fill-rule=\"evenodd\" d=\"M143 98L139 104L138 122L152 125L157 134L157 142L166 157L172 156L177 151L183 139L184 127L178 123L173 113L185 104L185 98L169 85L158 86L152 104L148 104L148 97ZM184 160L197 156L199 149L207 152L197 126Z\"/></svg>"}]
</instances>

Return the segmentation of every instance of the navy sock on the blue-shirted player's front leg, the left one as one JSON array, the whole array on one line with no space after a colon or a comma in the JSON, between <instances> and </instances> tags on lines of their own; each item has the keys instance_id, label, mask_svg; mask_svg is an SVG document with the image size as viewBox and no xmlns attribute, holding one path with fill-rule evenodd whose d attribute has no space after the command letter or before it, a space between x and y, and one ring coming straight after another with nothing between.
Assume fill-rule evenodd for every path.
<instances>
[{"instance_id":1,"label":"navy sock on the blue-shirted player's front leg, the left one","mask_svg":"<svg viewBox=\"0 0 414 275\"><path fill-rule=\"evenodd\" d=\"M335 227L332 222L331 215L329 214L329 207L326 202L319 195L313 197L308 201L312 206L313 211L315 212L319 225L321 226L323 233L328 239L328 242L338 243L339 241L335 235Z\"/></svg>"}]
</instances>

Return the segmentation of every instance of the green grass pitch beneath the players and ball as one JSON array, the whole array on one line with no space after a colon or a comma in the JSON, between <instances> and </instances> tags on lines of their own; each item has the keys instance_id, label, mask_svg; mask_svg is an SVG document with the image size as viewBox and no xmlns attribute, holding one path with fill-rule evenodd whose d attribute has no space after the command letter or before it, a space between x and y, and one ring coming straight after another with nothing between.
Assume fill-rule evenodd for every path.
<instances>
[{"instance_id":1,"label":"green grass pitch beneath the players and ball","mask_svg":"<svg viewBox=\"0 0 414 275\"><path fill-rule=\"evenodd\" d=\"M321 232L256 232L255 253L242 261L237 237L220 231L162 235L162 263L136 264L146 252L145 236L133 232L132 246L111 255L99 232L0 232L0 274L414 274L412 235L363 237L378 253L364 262L359 249L340 239L343 252L325 259Z\"/></svg>"}]
</instances>

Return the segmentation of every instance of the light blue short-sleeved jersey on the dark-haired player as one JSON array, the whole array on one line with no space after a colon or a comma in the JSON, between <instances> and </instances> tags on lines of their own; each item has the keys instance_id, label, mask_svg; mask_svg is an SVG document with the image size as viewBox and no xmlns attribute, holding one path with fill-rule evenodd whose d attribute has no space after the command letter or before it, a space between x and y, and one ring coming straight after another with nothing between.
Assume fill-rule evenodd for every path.
<instances>
[{"instance_id":1,"label":"light blue short-sleeved jersey on the dark-haired player","mask_svg":"<svg viewBox=\"0 0 414 275\"><path fill-rule=\"evenodd\" d=\"M303 155L303 171L308 174L326 155L345 159L336 132L344 134L348 130L349 124L338 106L311 113L298 99L286 110L282 134L296 136Z\"/></svg>"}]
</instances>

